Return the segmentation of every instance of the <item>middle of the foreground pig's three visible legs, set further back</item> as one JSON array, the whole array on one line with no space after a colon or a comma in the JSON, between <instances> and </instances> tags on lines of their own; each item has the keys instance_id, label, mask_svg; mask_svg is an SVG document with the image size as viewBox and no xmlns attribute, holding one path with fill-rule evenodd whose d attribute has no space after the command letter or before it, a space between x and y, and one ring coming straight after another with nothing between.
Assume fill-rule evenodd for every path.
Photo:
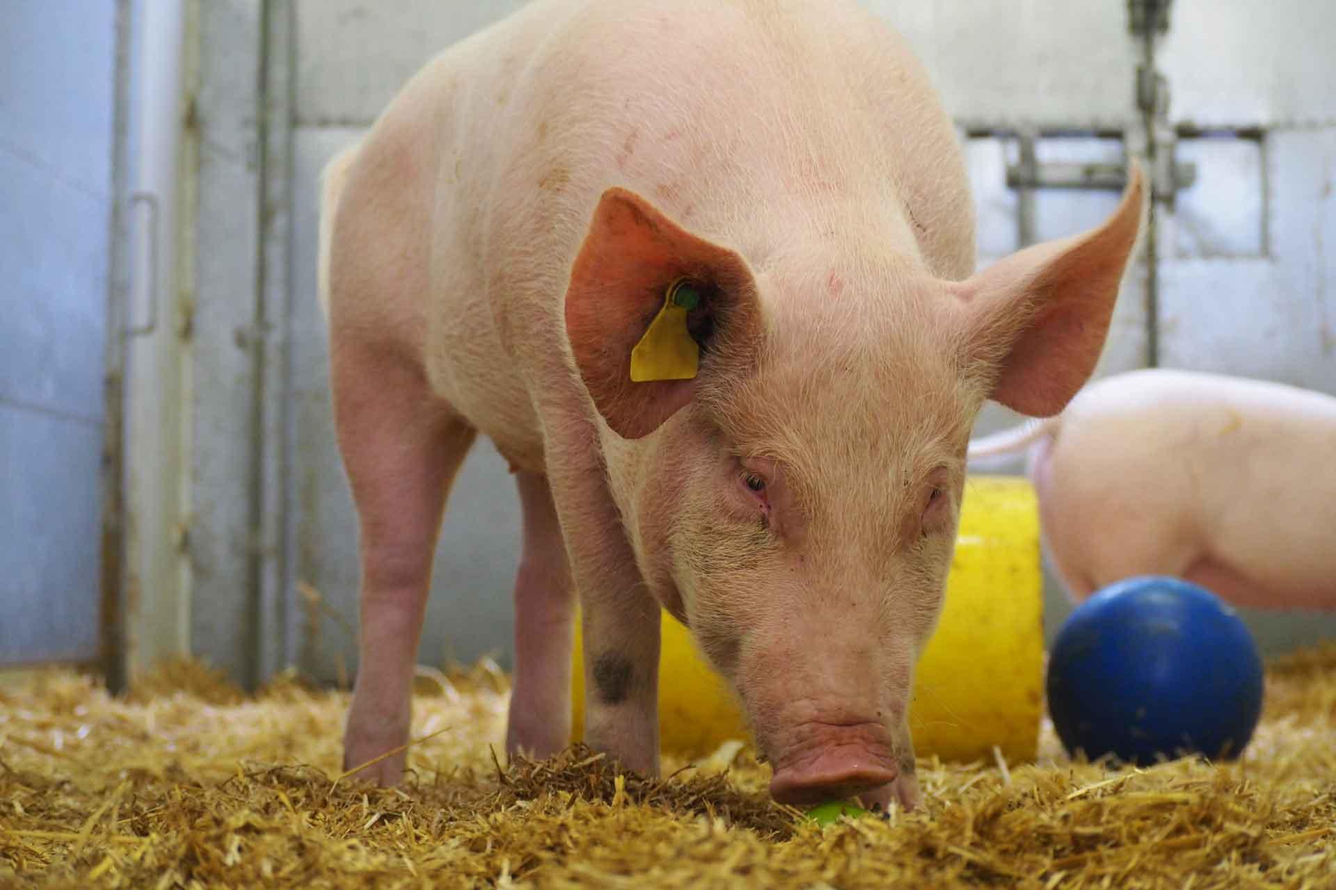
<instances>
[{"instance_id":1,"label":"middle of the foreground pig's three visible legs, set further back","mask_svg":"<svg viewBox=\"0 0 1336 890\"><path fill-rule=\"evenodd\" d=\"M548 757L570 738L574 586L546 476L516 474L524 511L514 582L514 687L506 750Z\"/></svg>"}]
</instances>

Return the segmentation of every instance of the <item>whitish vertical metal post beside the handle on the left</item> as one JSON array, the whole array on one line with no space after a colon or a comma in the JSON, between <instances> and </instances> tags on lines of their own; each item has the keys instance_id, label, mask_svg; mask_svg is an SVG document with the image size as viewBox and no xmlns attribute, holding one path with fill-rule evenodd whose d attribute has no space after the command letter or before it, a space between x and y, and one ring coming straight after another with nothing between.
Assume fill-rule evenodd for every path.
<instances>
[{"instance_id":1,"label":"whitish vertical metal post beside the handle on the left","mask_svg":"<svg viewBox=\"0 0 1336 890\"><path fill-rule=\"evenodd\" d=\"M131 84L126 192L130 216L124 410L126 669L131 679L190 651L184 515L183 368L175 318L184 0L131 0ZM146 197L147 196L147 197ZM158 303L162 303L160 306Z\"/></svg>"}]
</instances>

